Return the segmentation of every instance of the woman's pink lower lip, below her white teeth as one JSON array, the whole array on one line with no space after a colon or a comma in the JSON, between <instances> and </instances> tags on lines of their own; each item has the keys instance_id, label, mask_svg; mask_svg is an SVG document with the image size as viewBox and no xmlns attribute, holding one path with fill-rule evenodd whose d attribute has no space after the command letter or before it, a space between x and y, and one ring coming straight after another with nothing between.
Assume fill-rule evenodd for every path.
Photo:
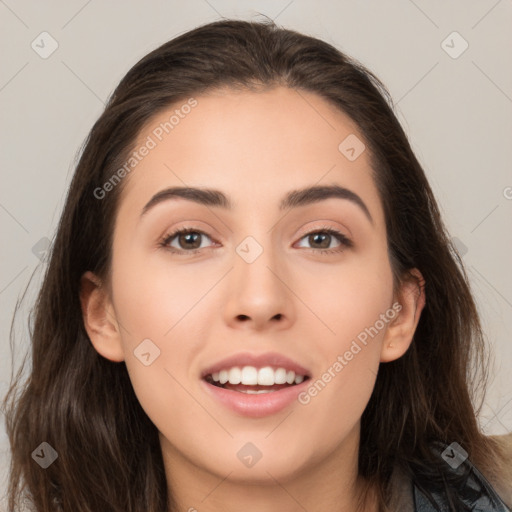
<instances>
[{"instance_id":1,"label":"woman's pink lower lip, below her white teeth","mask_svg":"<svg viewBox=\"0 0 512 512\"><path fill-rule=\"evenodd\" d=\"M201 380L207 393L213 396L223 405L242 416L261 418L275 414L297 399L297 395L309 385L309 379L300 384L272 391L270 393L249 394L240 391L224 389Z\"/></svg>"}]
</instances>

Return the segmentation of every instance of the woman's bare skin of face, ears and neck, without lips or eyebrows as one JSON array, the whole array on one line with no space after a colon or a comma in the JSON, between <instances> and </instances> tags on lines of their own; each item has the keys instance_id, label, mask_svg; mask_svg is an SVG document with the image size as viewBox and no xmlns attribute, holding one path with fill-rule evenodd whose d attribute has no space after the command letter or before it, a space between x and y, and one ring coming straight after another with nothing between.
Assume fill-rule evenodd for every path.
<instances>
[{"instance_id":1,"label":"woman's bare skin of face, ears and neck, without lips or eyebrows","mask_svg":"<svg viewBox=\"0 0 512 512\"><path fill-rule=\"evenodd\" d=\"M90 272L82 278L87 332L101 355L126 362L160 432L180 511L353 511L362 484L360 418L379 364L401 357L411 343L423 289L409 279L393 292L368 151L351 162L338 150L349 134L363 139L345 114L315 94L283 87L217 90L196 99L197 107L125 178L110 279L101 283ZM157 115L138 142L175 108ZM223 191L233 210L177 199L141 218L154 194L185 184ZM290 190L331 184L359 195L373 223L338 198L278 210ZM306 234L326 226L353 247L321 253L321 241ZM179 227L206 233L198 254L158 245ZM247 236L263 248L253 263L235 251ZM329 249L340 248L330 240ZM179 242L171 242L176 250L190 251L190 241ZM394 320L307 405L247 418L202 390L204 368L243 350L280 352L320 378L395 302L402 309ZM147 338L161 351L150 366L133 353ZM262 453L251 468L237 457L248 442ZM376 511L375 500L364 510Z\"/></svg>"}]
</instances>

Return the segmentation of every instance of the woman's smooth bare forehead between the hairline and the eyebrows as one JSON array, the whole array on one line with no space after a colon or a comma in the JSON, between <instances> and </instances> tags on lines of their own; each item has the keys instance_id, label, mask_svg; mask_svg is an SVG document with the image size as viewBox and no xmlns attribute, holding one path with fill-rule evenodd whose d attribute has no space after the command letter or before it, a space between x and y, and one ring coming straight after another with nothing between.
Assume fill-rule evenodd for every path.
<instances>
[{"instance_id":1,"label":"woman's smooth bare forehead between the hairline and the eyebrows","mask_svg":"<svg viewBox=\"0 0 512 512\"><path fill-rule=\"evenodd\" d=\"M291 189L327 183L378 202L357 125L311 92L221 89L184 99L153 116L134 146L150 150L127 177L122 203L139 209L176 185L224 190L235 208L272 199L277 207Z\"/></svg>"}]
</instances>

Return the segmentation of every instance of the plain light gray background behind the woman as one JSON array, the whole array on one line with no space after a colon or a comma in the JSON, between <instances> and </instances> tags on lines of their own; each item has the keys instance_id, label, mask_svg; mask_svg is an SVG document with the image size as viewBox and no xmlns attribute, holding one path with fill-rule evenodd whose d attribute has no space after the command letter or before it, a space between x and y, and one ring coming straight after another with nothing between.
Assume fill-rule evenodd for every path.
<instances>
[{"instance_id":1,"label":"plain light gray background behind the woman","mask_svg":"<svg viewBox=\"0 0 512 512\"><path fill-rule=\"evenodd\" d=\"M334 44L389 88L464 254L495 354L482 428L512 430L510 0L0 0L0 395L10 379L14 305L34 274L16 323L19 361L47 239L76 154L109 94L139 58L172 37L221 16L257 13ZM44 31L58 43L46 59L31 47L51 48ZM469 46L458 55L464 41ZM2 427L0 490L7 465Z\"/></svg>"}]
</instances>

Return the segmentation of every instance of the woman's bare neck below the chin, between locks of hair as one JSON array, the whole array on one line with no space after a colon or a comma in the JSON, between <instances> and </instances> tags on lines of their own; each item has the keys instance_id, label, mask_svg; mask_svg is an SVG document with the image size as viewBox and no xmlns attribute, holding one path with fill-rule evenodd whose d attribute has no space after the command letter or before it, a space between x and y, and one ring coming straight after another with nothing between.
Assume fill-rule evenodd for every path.
<instances>
[{"instance_id":1,"label":"woman's bare neck below the chin, between locks of hair","mask_svg":"<svg viewBox=\"0 0 512 512\"><path fill-rule=\"evenodd\" d=\"M359 429L355 429L323 459L275 475L272 466L260 467L258 478L224 475L193 464L161 439L169 488L175 502L170 512L355 512L364 482L357 474ZM283 453L283 457L285 454ZM373 492L361 512L377 512Z\"/></svg>"}]
</instances>

